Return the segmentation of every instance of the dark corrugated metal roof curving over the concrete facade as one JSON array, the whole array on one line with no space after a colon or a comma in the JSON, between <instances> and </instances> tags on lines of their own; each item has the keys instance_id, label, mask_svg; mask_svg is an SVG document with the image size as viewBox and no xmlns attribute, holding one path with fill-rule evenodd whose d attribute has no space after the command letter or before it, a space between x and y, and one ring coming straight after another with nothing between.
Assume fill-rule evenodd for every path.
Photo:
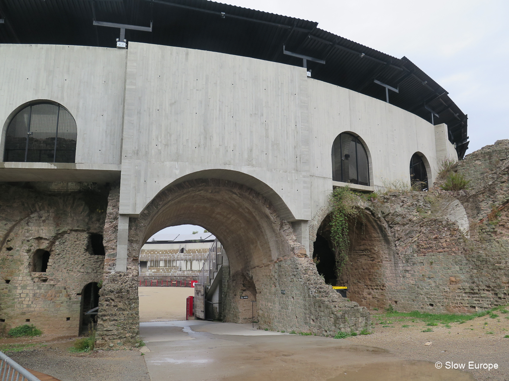
<instances>
[{"instance_id":1,"label":"dark corrugated metal roof curving over the concrete facade","mask_svg":"<svg viewBox=\"0 0 509 381\"><path fill-rule=\"evenodd\" d=\"M318 23L207 0L0 0L0 43L115 47L119 29L93 21L150 26L126 30L127 41L179 46L302 66L315 79L385 101L434 124L446 123L460 158L468 148L467 115L448 92L408 58L395 58L336 36Z\"/></svg>"}]
</instances>

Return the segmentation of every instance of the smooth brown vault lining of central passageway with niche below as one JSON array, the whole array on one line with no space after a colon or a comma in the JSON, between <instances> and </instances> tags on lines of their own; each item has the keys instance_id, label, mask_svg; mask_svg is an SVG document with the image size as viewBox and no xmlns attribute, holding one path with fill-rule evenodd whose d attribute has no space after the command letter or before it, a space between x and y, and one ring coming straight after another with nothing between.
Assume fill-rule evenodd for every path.
<instances>
[{"instance_id":1,"label":"smooth brown vault lining of central passageway with niche below","mask_svg":"<svg viewBox=\"0 0 509 381\"><path fill-rule=\"evenodd\" d=\"M223 320L251 322L252 302L256 301L254 315L268 303L256 291L264 281L261 269L292 256L291 242L300 246L290 225L278 218L265 198L244 185L191 180L163 190L148 205L129 229L129 254L137 256L140 245L160 229L185 224L210 231L227 252L228 265L222 269L227 284L222 291Z\"/></svg>"}]
</instances>

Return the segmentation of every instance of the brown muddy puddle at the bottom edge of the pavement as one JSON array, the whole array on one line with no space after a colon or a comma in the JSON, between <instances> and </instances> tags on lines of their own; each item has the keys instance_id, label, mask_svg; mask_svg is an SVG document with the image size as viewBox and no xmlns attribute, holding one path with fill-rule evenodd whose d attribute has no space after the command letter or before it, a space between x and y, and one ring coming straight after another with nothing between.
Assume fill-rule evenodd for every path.
<instances>
[{"instance_id":1,"label":"brown muddy puddle at the bottom edge of the pavement","mask_svg":"<svg viewBox=\"0 0 509 381\"><path fill-rule=\"evenodd\" d=\"M327 381L475 381L467 372L436 369L427 361L395 361L351 367Z\"/></svg>"}]
</instances>

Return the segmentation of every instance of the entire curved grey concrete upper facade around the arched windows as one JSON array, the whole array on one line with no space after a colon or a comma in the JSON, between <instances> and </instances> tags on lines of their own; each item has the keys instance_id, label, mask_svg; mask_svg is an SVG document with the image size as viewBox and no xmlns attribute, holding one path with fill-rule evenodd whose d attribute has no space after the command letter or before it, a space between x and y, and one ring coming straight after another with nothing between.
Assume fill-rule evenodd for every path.
<instances>
[{"instance_id":1,"label":"entire curved grey concrete upper facade around the arched windows","mask_svg":"<svg viewBox=\"0 0 509 381\"><path fill-rule=\"evenodd\" d=\"M127 51L0 45L0 55L0 149L9 121L34 100L62 104L78 127L75 164L2 163L0 181L120 176L120 271L127 217L138 216L167 186L196 178L246 185L294 223L308 252L305 221L332 190L330 153L338 134L352 132L364 143L366 190L409 183L415 152L425 157L430 182L444 157L457 158L445 125L307 78L299 67L139 43Z\"/></svg>"}]
</instances>

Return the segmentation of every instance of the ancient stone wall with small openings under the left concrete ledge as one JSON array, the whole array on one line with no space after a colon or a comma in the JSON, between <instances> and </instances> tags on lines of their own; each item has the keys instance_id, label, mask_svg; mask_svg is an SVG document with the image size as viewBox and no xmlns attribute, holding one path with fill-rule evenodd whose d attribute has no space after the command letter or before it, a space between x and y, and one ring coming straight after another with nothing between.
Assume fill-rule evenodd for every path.
<instances>
[{"instance_id":1,"label":"ancient stone wall with small openings under the left concrete ledge","mask_svg":"<svg viewBox=\"0 0 509 381\"><path fill-rule=\"evenodd\" d=\"M90 183L0 184L0 325L77 334L81 292L100 283L108 190Z\"/></svg>"}]
</instances>

